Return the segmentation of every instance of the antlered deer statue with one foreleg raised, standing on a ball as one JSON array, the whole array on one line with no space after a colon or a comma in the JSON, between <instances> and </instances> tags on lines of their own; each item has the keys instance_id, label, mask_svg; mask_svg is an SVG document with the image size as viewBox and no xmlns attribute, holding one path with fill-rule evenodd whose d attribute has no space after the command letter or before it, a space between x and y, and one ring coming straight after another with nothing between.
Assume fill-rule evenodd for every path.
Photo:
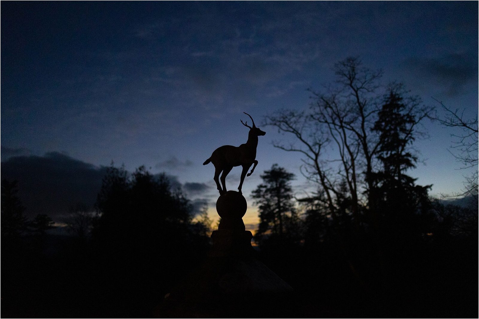
<instances>
[{"instance_id":1,"label":"antlered deer statue with one foreleg raised, standing on a ball","mask_svg":"<svg viewBox=\"0 0 479 319\"><path fill-rule=\"evenodd\" d=\"M256 147L258 146L258 136L263 136L266 134L266 132L261 131L256 127L256 125L254 125L253 118L250 114L246 112L243 113L248 115L251 119L251 122L253 122L253 126L251 127L248 125L248 121L243 123L242 120L239 120L241 121L241 124L250 129L250 132L248 133L248 141L239 145L238 147L232 145L220 146L213 152L213 154L211 154L205 163L203 163L203 165L206 165L211 162L213 165L215 165L215 177L213 177L213 179L216 182L220 195L226 193L225 179L233 167L240 165L243 167L243 171L241 172L241 180L239 181L238 187L239 194L242 194L241 187L243 186L244 177L250 176L253 173L256 165L258 165L258 161L255 159ZM253 168L247 175L246 172L248 172L248 169L252 164L254 164ZM223 184L223 188L221 188L221 185L219 185L218 181L218 177L221 172L223 172L223 174L221 174L221 184Z\"/></svg>"}]
</instances>

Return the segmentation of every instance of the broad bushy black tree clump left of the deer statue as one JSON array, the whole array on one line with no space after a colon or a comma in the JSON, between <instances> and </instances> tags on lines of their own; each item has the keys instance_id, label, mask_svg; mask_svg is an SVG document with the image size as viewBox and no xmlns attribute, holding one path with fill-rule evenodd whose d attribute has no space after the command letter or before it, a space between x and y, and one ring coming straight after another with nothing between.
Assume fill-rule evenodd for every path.
<instances>
[{"instance_id":1,"label":"broad bushy black tree clump left of the deer statue","mask_svg":"<svg viewBox=\"0 0 479 319\"><path fill-rule=\"evenodd\" d=\"M96 207L100 218L93 235L132 253L147 254L166 248L173 238L185 239L192 219L192 206L181 191L171 190L164 174L153 176L144 166L128 175L124 167L112 165Z\"/></svg>"}]
</instances>

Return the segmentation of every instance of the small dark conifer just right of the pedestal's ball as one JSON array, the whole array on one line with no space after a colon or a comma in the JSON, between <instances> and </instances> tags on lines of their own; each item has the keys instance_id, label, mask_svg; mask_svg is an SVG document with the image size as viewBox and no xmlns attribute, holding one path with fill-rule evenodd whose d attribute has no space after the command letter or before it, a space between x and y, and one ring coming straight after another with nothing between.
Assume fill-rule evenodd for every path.
<instances>
[{"instance_id":1,"label":"small dark conifer just right of the pedestal's ball","mask_svg":"<svg viewBox=\"0 0 479 319\"><path fill-rule=\"evenodd\" d=\"M261 243L263 237L269 235L282 241L285 234L291 235L297 229L297 213L291 188L294 174L274 164L270 170L264 171L261 178L263 183L252 191L260 212L255 240Z\"/></svg>"}]
</instances>

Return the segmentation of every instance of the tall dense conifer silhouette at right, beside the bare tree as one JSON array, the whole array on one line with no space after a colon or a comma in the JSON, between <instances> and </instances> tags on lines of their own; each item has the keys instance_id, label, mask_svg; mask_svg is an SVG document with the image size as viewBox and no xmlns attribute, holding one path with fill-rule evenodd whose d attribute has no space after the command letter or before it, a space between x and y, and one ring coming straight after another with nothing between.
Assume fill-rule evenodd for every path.
<instances>
[{"instance_id":1,"label":"tall dense conifer silhouette at right, beside the bare tree","mask_svg":"<svg viewBox=\"0 0 479 319\"><path fill-rule=\"evenodd\" d=\"M415 185L416 179L404 173L415 167L417 157L408 148L417 135L417 124L428 112L422 109L418 112L420 101L414 98L404 99L401 89L400 86L390 88L372 128L379 134L377 157L382 169L372 175L375 186L370 191L375 193L374 207L378 210L377 213L383 217L392 217L387 224L394 224L391 228L395 230L406 225L411 228L411 222L414 221L411 218L418 213L426 214L431 209L427 195L431 185ZM406 216L410 218L406 219ZM384 225L381 227L384 228Z\"/></svg>"}]
</instances>

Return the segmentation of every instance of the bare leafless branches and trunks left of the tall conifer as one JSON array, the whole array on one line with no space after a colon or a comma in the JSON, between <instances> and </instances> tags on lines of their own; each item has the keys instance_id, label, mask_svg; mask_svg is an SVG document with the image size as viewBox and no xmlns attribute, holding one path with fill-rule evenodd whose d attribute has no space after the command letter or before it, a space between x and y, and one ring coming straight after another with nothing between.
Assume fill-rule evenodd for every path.
<instances>
[{"instance_id":1,"label":"bare leafless branches and trunks left of the tall conifer","mask_svg":"<svg viewBox=\"0 0 479 319\"><path fill-rule=\"evenodd\" d=\"M382 72L363 67L357 57L336 63L334 72L336 85L325 87L322 93L310 90L315 102L311 104L309 112L283 111L267 117L266 122L282 132L292 133L306 146L295 148L274 144L286 151L298 151L306 155L304 162L308 177L318 181L324 189L333 216L333 197L338 195L338 182L331 175L331 164L340 163L337 173L348 185L352 197L351 209L354 217L357 217L361 172L365 174L362 180L366 182L366 190L373 187L371 176L379 142L374 134L370 134L370 128L374 125L378 110L376 90L380 88ZM334 145L339 158L325 154L324 146L330 143Z\"/></svg>"}]
</instances>

